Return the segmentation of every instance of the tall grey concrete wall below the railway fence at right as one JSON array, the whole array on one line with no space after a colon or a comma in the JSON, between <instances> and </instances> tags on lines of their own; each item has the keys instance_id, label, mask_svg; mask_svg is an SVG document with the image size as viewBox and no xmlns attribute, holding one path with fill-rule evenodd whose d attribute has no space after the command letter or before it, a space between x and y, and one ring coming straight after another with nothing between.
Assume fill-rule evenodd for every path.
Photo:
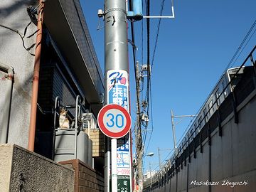
<instances>
[{"instance_id":1,"label":"tall grey concrete wall below the railway fence at right","mask_svg":"<svg viewBox=\"0 0 256 192\"><path fill-rule=\"evenodd\" d=\"M218 134L218 128L211 134L211 146L208 139L203 142L203 153L200 147L196 149L196 159L191 154L188 164L189 192L249 192L256 188L256 97L250 95L250 100L238 106L239 123L235 124L231 113L222 124L223 136ZM210 153L210 156L209 156ZM209 161L210 158L210 161ZM211 175L209 177L209 163ZM180 166L181 168L181 166ZM178 176L171 178L171 185L166 188L156 188L154 191L186 191L187 166L180 169ZM176 179L178 188L176 189ZM214 181L213 186L193 185L191 181ZM234 183L235 182L235 183ZM228 183L228 185L227 185ZM235 184L235 186L233 186ZM166 182L169 185L169 182Z\"/></svg>"}]
</instances>

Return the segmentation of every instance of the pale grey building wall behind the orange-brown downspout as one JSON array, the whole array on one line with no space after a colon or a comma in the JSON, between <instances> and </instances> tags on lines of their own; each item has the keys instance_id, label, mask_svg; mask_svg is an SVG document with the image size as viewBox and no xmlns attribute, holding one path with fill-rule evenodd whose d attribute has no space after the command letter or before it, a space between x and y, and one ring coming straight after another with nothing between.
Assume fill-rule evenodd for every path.
<instances>
[{"instance_id":1,"label":"pale grey building wall behind the orange-brown downspout","mask_svg":"<svg viewBox=\"0 0 256 192\"><path fill-rule=\"evenodd\" d=\"M31 112L31 87L36 43L37 27L31 23L27 7L33 6L36 1L0 1L0 63L11 65L14 68L14 90L11 102L11 119L9 126L9 143L23 147L28 146L28 127ZM7 28L6 28L7 27ZM27 27L26 36L21 39ZM10 29L11 28L11 29ZM21 36L14 31L21 33ZM23 47L24 43L24 47ZM26 50L29 49L29 50ZM1 75L1 77L3 77ZM2 110L7 98L5 97L5 80L0 80L0 124ZM0 126L1 127L1 126ZM1 128L0 128L1 134Z\"/></svg>"}]
</instances>

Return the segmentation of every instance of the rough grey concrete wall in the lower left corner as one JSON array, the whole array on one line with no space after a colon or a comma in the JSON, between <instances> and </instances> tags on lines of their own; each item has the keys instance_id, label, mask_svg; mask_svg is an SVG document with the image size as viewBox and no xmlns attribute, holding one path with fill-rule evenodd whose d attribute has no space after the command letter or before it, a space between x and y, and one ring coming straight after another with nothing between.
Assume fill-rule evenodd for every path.
<instances>
[{"instance_id":1,"label":"rough grey concrete wall in the lower left corner","mask_svg":"<svg viewBox=\"0 0 256 192\"><path fill-rule=\"evenodd\" d=\"M12 144L0 145L0 191L74 191L73 169Z\"/></svg>"}]
</instances>

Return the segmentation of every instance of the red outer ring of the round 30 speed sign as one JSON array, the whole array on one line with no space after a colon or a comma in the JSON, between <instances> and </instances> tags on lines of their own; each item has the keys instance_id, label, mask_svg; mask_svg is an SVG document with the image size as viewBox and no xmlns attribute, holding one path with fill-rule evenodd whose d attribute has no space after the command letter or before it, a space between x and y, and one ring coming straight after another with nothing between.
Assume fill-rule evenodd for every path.
<instances>
[{"instance_id":1,"label":"red outer ring of the round 30 speed sign","mask_svg":"<svg viewBox=\"0 0 256 192\"><path fill-rule=\"evenodd\" d=\"M127 124L125 125L124 129L122 129L121 132L110 132L110 130L107 129L107 127L105 127L105 124L103 123L103 117L105 113L113 109L121 111L127 120ZM118 138L124 137L129 132L129 129L131 129L132 119L129 112L127 112L127 110L124 107L117 104L110 104L102 107L99 114L97 115L97 123L102 133L104 133L107 137L118 139Z\"/></svg>"}]
</instances>

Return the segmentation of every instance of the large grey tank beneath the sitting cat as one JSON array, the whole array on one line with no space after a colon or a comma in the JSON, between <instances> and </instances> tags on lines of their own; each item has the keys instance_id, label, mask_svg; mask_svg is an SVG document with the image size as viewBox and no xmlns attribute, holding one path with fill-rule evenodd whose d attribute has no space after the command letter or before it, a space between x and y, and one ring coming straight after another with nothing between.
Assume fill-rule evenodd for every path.
<instances>
[{"instance_id":1,"label":"large grey tank beneath the sitting cat","mask_svg":"<svg viewBox=\"0 0 256 192\"><path fill-rule=\"evenodd\" d=\"M77 159L92 167L92 141L85 132L79 132L77 139ZM54 161L75 159L75 131L57 130L54 152Z\"/></svg>"}]
</instances>

